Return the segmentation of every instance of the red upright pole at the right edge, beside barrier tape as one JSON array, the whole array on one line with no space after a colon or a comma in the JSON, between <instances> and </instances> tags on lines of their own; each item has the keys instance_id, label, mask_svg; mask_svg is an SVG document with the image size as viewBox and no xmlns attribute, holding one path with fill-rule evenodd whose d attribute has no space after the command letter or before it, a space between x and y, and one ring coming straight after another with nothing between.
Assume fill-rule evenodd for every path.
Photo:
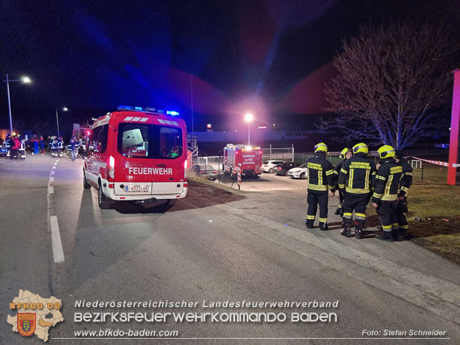
<instances>
[{"instance_id":1,"label":"red upright pole at the right edge, beside barrier tape","mask_svg":"<svg viewBox=\"0 0 460 345\"><path fill-rule=\"evenodd\" d=\"M460 124L460 69L454 73L454 94L452 96L452 119L450 121L448 185L455 185L459 153L459 124Z\"/></svg>"}]
</instances>

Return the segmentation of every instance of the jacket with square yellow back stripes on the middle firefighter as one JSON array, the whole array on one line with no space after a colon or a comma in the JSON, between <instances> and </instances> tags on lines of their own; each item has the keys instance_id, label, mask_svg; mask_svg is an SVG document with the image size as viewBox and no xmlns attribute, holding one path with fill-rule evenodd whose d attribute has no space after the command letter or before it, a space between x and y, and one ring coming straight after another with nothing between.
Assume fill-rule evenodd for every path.
<instances>
[{"instance_id":1,"label":"jacket with square yellow back stripes on the middle firefighter","mask_svg":"<svg viewBox=\"0 0 460 345\"><path fill-rule=\"evenodd\" d=\"M362 152L345 160L339 174L339 188L342 192L367 194L371 192L376 176L376 164Z\"/></svg>"}]
</instances>

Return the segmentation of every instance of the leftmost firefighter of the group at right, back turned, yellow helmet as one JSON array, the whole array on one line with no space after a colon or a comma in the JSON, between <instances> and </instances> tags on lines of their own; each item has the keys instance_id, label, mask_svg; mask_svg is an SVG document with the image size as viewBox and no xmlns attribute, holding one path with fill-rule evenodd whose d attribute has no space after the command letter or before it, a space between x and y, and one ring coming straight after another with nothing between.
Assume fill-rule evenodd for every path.
<instances>
[{"instance_id":1,"label":"leftmost firefighter of the group at right, back turned, yellow helmet","mask_svg":"<svg viewBox=\"0 0 460 345\"><path fill-rule=\"evenodd\" d=\"M327 230L327 194L334 196L335 185L331 162L326 160L327 146L320 142L315 146L315 156L306 161L307 174L309 176L309 187L306 201L309 204L306 212L306 227L313 228L316 209L320 205L320 230Z\"/></svg>"}]
</instances>

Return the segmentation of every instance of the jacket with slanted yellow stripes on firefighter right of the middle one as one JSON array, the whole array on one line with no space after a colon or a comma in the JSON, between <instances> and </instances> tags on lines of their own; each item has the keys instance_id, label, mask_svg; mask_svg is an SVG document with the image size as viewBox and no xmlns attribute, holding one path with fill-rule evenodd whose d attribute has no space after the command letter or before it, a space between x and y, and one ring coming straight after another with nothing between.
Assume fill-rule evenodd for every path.
<instances>
[{"instance_id":1,"label":"jacket with slanted yellow stripes on firefighter right of the middle one","mask_svg":"<svg viewBox=\"0 0 460 345\"><path fill-rule=\"evenodd\" d=\"M394 158L383 160L377 171L372 202L398 200L399 183L402 177L403 167Z\"/></svg>"}]
</instances>

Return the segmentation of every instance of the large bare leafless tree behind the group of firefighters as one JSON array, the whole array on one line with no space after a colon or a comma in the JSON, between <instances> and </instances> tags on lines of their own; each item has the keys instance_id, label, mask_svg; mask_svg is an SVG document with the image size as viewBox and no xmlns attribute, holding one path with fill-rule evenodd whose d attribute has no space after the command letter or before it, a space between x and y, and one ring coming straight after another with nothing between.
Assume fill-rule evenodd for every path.
<instances>
[{"instance_id":1,"label":"large bare leafless tree behind the group of firefighters","mask_svg":"<svg viewBox=\"0 0 460 345\"><path fill-rule=\"evenodd\" d=\"M338 117L323 120L322 127L339 129L341 140L396 148L428 136L434 119L450 106L459 40L446 26L362 28L333 61L338 75L324 92L326 111Z\"/></svg>"}]
</instances>

